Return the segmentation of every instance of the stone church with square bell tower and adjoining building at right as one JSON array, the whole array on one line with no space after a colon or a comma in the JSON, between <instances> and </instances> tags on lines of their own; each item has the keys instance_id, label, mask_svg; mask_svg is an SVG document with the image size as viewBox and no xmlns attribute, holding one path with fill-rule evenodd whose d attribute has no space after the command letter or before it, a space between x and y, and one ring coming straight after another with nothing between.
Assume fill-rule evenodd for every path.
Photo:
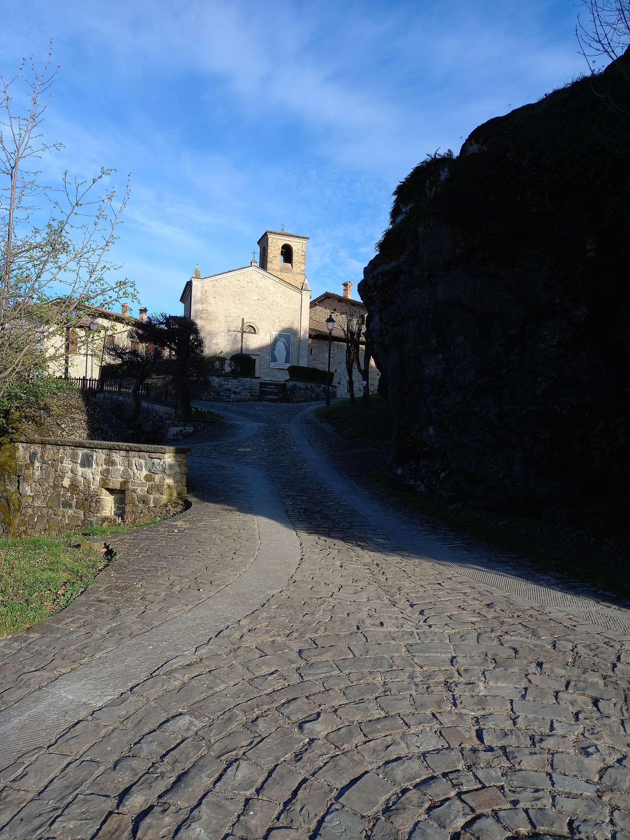
<instances>
[{"instance_id":1,"label":"stone church with square bell tower and adjoining building at right","mask_svg":"<svg viewBox=\"0 0 630 840\"><path fill-rule=\"evenodd\" d=\"M307 236L281 230L265 230L258 240L260 265L254 259L235 268L202 277L197 266L184 286L180 301L184 313L197 322L211 355L247 353L255 360L255 375L263 381L284 381L290 365L328 365L329 314L343 321L348 308L366 312L361 301L350 297L351 283L344 283L344 295L325 292L311 301L305 275ZM333 330L331 370L338 395L347 390L344 363L344 334ZM360 392L354 370L355 392ZM375 391L378 371L370 368L370 390Z\"/></svg>"}]
</instances>

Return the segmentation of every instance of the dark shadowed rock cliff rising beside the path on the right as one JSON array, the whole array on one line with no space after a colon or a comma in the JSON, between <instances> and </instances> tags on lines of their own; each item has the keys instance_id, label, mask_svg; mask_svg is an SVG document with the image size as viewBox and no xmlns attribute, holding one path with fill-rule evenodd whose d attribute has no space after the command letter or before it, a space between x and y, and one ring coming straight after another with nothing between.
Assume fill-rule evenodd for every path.
<instances>
[{"instance_id":1,"label":"dark shadowed rock cliff rising beside the path on the right","mask_svg":"<svg viewBox=\"0 0 630 840\"><path fill-rule=\"evenodd\" d=\"M611 66L397 187L359 289L418 491L531 512L627 491L629 113Z\"/></svg>"}]
</instances>

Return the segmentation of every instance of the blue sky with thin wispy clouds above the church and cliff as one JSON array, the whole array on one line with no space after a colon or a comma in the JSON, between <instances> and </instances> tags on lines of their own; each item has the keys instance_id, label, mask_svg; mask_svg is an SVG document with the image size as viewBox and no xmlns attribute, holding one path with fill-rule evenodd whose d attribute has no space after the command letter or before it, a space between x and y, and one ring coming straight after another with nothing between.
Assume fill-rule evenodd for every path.
<instances>
[{"instance_id":1,"label":"blue sky with thin wispy clouds above the church and cliff","mask_svg":"<svg viewBox=\"0 0 630 840\"><path fill-rule=\"evenodd\" d=\"M59 65L41 160L116 170L112 260L149 312L309 236L313 297L358 283L391 193L437 149L585 71L579 0L0 0L0 71ZM354 297L356 288L354 287ZM132 307L137 311L138 304Z\"/></svg>"}]
</instances>

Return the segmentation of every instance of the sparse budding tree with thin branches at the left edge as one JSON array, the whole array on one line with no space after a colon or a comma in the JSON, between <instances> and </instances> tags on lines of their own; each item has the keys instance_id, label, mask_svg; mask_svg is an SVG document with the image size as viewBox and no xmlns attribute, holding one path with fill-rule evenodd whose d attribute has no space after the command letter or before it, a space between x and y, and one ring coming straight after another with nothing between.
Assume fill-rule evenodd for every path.
<instances>
[{"instance_id":1,"label":"sparse budding tree with thin branches at the left edge","mask_svg":"<svg viewBox=\"0 0 630 840\"><path fill-rule=\"evenodd\" d=\"M137 300L129 281L109 279L106 261L129 198L117 200L101 169L87 181L68 176L53 189L34 160L59 150L41 133L55 80L50 54L42 72L23 62L0 75L0 397L63 357L64 335L87 307ZM14 108L13 93L26 106Z\"/></svg>"}]
</instances>

